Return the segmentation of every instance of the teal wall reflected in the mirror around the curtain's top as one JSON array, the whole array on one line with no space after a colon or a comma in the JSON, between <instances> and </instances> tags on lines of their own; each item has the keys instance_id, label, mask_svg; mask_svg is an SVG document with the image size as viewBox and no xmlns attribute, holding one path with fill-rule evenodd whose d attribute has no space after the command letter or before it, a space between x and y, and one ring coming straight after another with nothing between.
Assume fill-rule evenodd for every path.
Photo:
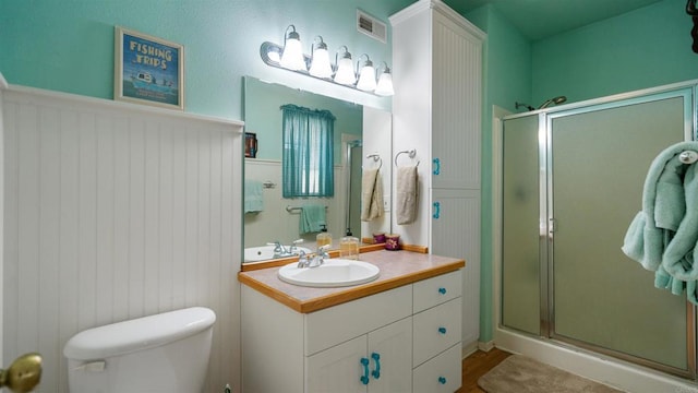
<instances>
[{"instance_id":1,"label":"teal wall reflected in the mirror around the curtain's top","mask_svg":"<svg viewBox=\"0 0 698 393\"><path fill-rule=\"evenodd\" d=\"M340 99L245 78L244 126L256 133L258 159L281 160L281 105L329 110L335 116L335 165L341 165L341 134L362 138L363 107Z\"/></svg>"}]
</instances>

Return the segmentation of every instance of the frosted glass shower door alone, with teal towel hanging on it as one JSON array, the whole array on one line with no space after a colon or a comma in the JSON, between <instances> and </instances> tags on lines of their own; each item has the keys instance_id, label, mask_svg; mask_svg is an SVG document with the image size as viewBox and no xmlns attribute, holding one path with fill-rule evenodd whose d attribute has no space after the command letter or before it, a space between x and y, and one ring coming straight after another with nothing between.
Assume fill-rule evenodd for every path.
<instances>
[{"instance_id":1,"label":"frosted glass shower door alone, with teal towel hanging on it","mask_svg":"<svg viewBox=\"0 0 698 393\"><path fill-rule=\"evenodd\" d=\"M693 308L621 251L649 164L690 114L688 90L549 116L551 337L693 376Z\"/></svg>"}]
</instances>

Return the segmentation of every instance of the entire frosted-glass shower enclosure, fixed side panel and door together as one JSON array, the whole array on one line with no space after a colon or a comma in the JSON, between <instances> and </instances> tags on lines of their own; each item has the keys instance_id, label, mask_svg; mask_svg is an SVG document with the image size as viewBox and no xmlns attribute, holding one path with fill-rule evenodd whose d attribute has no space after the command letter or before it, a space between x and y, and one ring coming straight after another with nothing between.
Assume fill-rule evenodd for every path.
<instances>
[{"instance_id":1,"label":"entire frosted-glass shower enclosure, fixed side panel and door together","mask_svg":"<svg viewBox=\"0 0 698 393\"><path fill-rule=\"evenodd\" d=\"M501 325L695 379L695 313L622 251L652 159L694 139L694 86L503 121Z\"/></svg>"}]
</instances>

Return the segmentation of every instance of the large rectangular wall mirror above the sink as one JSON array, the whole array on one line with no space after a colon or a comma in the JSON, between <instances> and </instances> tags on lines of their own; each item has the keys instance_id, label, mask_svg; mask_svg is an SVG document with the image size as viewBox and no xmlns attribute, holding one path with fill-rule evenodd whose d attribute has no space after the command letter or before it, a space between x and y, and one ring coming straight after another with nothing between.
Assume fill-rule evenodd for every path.
<instances>
[{"instance_id":1,"label":"large rectangular wall mirror above the sink","mask_svg":"<svg viewBox=\"0 0 698 393\"><path fill-rule=\"evenodd\" d=\"M282 196L284 105L328 110L334 122L334 195L329 198ZM244 79L244 255L243 262L278 257L275 242L288 249L294 240L305 251L315 251L317 233L301 233L303 206L324 206L333 248L351 236L372 239L374 233L390 231L392 115L323 95ZM362 170L380 168L384 214L361 221Z\"/></svg>"}]
</instances>

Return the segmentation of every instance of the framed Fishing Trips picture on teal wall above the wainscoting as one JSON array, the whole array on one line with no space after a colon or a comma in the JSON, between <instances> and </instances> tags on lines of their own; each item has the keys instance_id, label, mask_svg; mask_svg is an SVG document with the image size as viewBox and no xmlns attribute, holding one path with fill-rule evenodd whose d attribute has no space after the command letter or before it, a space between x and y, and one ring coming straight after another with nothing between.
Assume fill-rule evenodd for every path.
<instances>
[{"instance_id":1,"label":"framed Fishing Trips picture on teal wall above the wainscoting","mask_svg":"<svg viewBox=\"0 0 698 393\"><path fill-rule=\"evenodd\" d=\"M115 27L113 98L184 110L184 47Z\"/></svg>"}]
</instances>

